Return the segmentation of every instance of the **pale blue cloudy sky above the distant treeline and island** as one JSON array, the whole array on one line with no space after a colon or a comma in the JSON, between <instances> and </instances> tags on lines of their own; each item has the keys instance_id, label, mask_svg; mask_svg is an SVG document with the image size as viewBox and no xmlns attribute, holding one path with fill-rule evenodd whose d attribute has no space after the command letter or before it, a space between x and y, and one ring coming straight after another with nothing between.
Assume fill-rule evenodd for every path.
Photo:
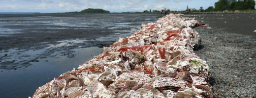
<instances>
[{"instance_id":1,"label":"pale blue cloudy sky above the distant treeline and island","mask_svg":"<svg viewBox=\"0 0 256 98\"><path fill-rule=\"evenodd\" d=\"M110 12L144 10L206 9L218 0L0 0L0 12L72 12L87 8L101 8Z\"/></svg>"}]
</instances>

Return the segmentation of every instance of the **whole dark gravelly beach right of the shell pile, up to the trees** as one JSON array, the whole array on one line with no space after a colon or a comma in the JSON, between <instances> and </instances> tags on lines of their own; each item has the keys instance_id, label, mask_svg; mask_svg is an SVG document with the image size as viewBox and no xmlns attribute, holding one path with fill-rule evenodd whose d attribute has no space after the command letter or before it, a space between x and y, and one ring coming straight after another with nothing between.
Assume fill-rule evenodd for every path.
<instances>
[{"instance_id":1,"label":"whole dark gravelly beach right of the shell pile, up to the trees","mask_svg":"<svg viewBox=\"0 0 256 98\"><path fill-rule=\"evenodd\" d=\"M212 14L199 16L204 18L196 16L196 20L210 25L211 29L194 28L202 39L195 53L207 61L209 82L216 95L256 98L256 14L225 14L223 19L216 19ZM235 19L230 20L230 17Z\"/></svg>"}]
</instances>

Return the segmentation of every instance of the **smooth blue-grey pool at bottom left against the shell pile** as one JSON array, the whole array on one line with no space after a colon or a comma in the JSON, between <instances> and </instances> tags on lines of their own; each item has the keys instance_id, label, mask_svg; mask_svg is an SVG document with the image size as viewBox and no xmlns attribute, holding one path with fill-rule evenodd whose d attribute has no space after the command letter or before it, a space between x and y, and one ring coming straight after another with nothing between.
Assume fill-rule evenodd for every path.
<instances>
[{"instance_id":1,"label":"smooth blue-grey pool at bottom left against the shell pile","mask_svg":"<svg viewBox=\"0 0 256 98\"><path fill-rule=\"evenodd\" d=\"M4 88L0 92L1 97L28 98L39 86L62 73L73 70L70 68L78 68L80 64L92 59L103 49L90 47L72 50L76 51L73 58L57 55L56 57L38 59L39 62L31 62L32 66L25 69L0 69L0 88ZM30 51L27 52L30 53Z\"/></svg>"}]
</instances>

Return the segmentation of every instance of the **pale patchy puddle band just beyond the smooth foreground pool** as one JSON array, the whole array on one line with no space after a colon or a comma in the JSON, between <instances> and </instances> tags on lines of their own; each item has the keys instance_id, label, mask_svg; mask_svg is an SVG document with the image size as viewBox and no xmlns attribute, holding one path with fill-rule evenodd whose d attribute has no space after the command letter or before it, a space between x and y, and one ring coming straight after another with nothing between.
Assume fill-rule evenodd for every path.
<instances>
[{"instance_id":1,"label":"pale patchy puddle band just beyond the smooth foreground pool","mask_svg":"<svg viewBox=\"0 0 256 98\"><path fill-rule=\"evenodd\" d=\"M0 69L6 70L17 70L23 67L32 66L32 62L40 61L39 58L56 57L57 55L64 55L69 58L75 56L76 49L87 48L87 47L98 47L99 45L92 43L112 43L120 37L126 37L134 33L136 29L131 29L128 33L117 32L116 34L100 37L95 40L86 39L73 39L73 40L61 40L57 41L56 44L48 44L48 47L43 49L8 49L0 50Z\"/></svg>"}]
</instances>

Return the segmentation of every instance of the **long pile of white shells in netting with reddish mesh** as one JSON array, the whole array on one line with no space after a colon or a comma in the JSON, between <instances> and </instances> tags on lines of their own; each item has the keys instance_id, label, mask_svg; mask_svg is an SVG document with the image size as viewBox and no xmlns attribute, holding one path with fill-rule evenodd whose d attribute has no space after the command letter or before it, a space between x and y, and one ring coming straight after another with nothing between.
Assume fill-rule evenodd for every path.
<instances>
[{"instance_id":1,"label":"long pile of white shells in netting with reddish mesh","mask_svg":"<svg viewBox=\"0 0 256 98\"><path fill-rule=\"evenodd\" d=\"M33 98L216 98L209 67L193 49L193 19L169 14L142 24L71 72L39 87Z\"/></svg>"}]
</instances>

